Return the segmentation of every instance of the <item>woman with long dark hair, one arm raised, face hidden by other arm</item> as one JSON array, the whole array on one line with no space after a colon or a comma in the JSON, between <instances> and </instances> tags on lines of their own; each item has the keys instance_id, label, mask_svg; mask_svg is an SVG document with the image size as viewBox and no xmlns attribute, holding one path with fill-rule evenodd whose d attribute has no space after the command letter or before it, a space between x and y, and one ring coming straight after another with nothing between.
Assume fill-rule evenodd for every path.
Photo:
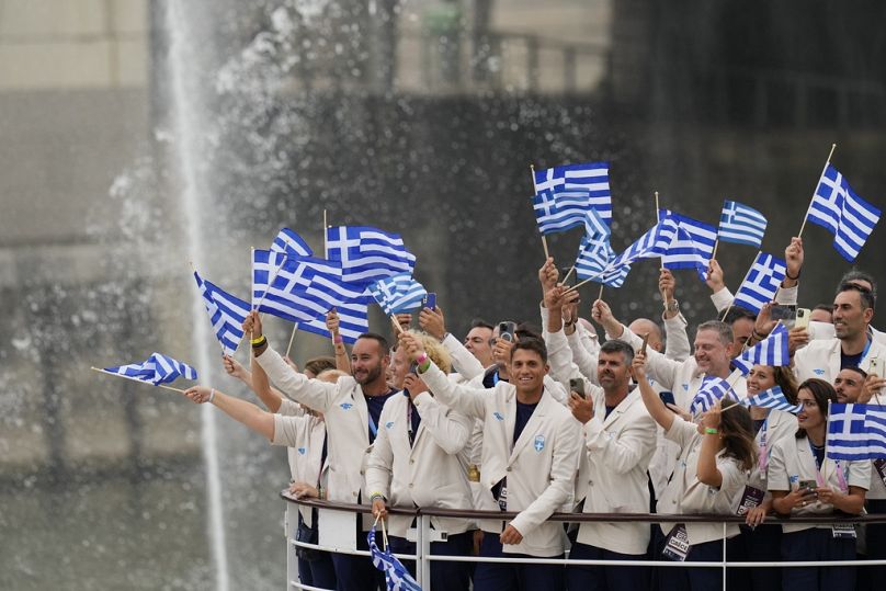
<instances>
[{"instance_id":1,"label":"woman with long dark hair, one arm raised, face hidden by other arm","mask_svg":"<svg viewBox=\"0 0 886 591\"><path fill-rule=\"evenodd\" d=\"M634 378L649 414L664 429L664 436L680 445L671 480L658 513L735 514L735 504L757 462L753 423L748 409L729 399L702 416L702 424L686 422L658 397L646 378L646 355L634 357ZM707 561L723 558L724 527L719 523L661 524L666 534L662 555L672 560ZM726 537L738 525L726 526ZM707 591L723 587L723 571L709 568L660 569L659 589Z\"/></svg>"}]
</instances>

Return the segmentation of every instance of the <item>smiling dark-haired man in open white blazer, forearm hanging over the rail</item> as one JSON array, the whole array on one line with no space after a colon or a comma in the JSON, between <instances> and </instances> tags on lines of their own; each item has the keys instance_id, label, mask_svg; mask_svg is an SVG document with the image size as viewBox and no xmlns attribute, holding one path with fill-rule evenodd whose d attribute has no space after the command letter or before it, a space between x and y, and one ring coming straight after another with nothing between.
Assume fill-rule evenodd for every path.
<instances>
[{"instance_id":1,"label":"smiling dark-haired man in open white blazer, forearm hanging over the rail","mask_svg":"<svg viewBox=\"0 0 886 591\"><path fill-rule=\"evenodd\" d=\"M400 343L419 364L419 375L434 397L451 408L484 421L480 482L487 511L513 511L504 523L485 520L484 557L561 557L564 533L546 522L571 502L580 442L579 424L544 386L547 351L536 338L521 338L511 349L510 382L491 389L453 384L434 365L421 343L400 334ZM475 591L563 589L563 569L552 565L479 564Z\"/></svg>"}]
</instances>

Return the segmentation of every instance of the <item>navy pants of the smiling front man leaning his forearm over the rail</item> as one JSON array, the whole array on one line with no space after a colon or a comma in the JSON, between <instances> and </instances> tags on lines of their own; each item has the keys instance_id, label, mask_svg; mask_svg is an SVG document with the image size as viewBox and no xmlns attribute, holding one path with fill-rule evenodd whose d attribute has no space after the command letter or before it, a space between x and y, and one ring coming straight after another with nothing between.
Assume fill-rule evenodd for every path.
<instances>
[{"instance_id":1,"label":"navy pants of the smiling front man leaning his forearm over the rail","mask_svg":"<svg viewBox=\"0 0 886 591\"><path fill-rule=\"evenodd\" d=\"M485 532L480 556L486 558L534 558L525 554L503 554L497 534ZM563 555L550 558L563 558ZM474 591L563 591L559 565L504 565L478 562L474 571Z\"/></svg>"}]
</instances>

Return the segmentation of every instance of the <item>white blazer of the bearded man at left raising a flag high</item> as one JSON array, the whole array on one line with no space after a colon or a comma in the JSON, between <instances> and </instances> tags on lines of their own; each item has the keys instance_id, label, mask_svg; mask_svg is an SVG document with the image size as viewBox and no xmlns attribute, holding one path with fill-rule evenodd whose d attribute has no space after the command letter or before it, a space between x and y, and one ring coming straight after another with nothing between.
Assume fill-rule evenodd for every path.
<instances>
[{"instance_id":1,"label":"white blazer of the bearded man at left raising a flag high","mask_svg":"<svg viewBox=\"0 0 886 591\"><path fill-rule=\"evenodd\" d=\"M323 413L329 434L327 499L370 504L364 478L372 451L370 414L360 384L351 376L340 377L334 384L308 378L286 365L280 353L270 346L255 361L283 394ZM364 530L368 531L372 522L372 515L364 515Z\"/></svg>"}]
</instances>

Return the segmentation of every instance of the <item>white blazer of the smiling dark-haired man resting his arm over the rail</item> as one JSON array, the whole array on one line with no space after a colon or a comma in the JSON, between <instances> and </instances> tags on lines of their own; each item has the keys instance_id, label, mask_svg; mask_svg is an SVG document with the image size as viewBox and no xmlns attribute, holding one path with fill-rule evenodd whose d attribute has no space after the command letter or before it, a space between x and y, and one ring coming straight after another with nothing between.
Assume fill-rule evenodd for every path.
<instances>
[{"instance_id":1,"label":"white blazer of the smiling dark-haired man resting his arm over the rail","mask_svg":"<svg viewBox=\"0 0 886 591\"><path fill-rule=\"evenodd\" d=\"M511 525L523 541L504 546L503 552L537 557L563 554L563 525L545 520L572 501L580 441L578 421L545 388L520 439L513 443L516 388L512 384L499 382L492 389L455 385L433 363L421 378L441 402L484 421L484 495L477 509L499 510L492 487L507 476L508 510L520 512ZM504 523L484 520L480 527L496 535L503 531Z\"/></svg>"}]
</instances>

